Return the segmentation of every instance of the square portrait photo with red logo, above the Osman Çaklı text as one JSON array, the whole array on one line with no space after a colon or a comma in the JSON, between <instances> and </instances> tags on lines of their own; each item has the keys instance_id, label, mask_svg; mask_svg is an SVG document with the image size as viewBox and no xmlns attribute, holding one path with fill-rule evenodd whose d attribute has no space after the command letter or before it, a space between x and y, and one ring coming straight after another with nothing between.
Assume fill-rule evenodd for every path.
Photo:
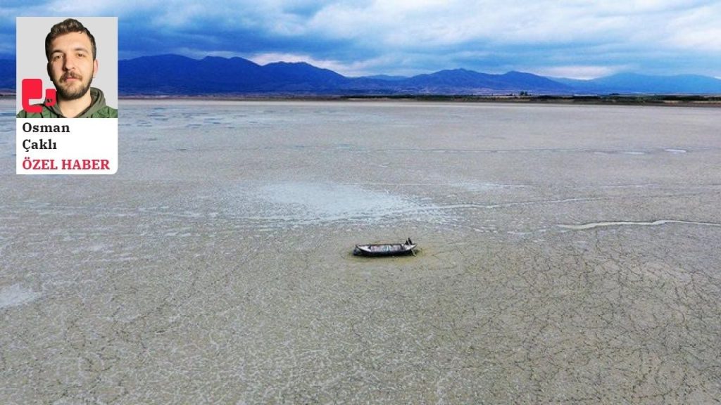
<instances>
[{"instance_id":1,"label":"square portrait photo with red logo, above the Osman \u00c7akl\u0131 text","mask_svg":"<svg viewBox=\"0 0 721 405\"><path fill-rule=\"evenodd\" d=\"M117 118L117 17L18 17L17 94L19 118Z\"/></svg>"}]
</instances>

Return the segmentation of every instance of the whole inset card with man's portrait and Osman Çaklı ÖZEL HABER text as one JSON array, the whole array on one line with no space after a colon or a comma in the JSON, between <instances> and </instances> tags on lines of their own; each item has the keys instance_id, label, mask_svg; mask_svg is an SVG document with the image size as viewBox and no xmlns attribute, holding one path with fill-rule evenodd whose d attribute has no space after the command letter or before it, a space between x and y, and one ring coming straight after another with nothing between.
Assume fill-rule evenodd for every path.
<instances>
[{"instance_id":1,"label":"whole inset card with man's portrait and Osman \u00c7akl\u0131 \u00d6ZEL HABER text","mask_svg":"<svg viewBox=\"0 0 721 405\"><path fill-rule=\"evenodd\" d=\"M16 81L17 174L117 172L117 17L17 17Z\"/></svg>"}]
</instances>

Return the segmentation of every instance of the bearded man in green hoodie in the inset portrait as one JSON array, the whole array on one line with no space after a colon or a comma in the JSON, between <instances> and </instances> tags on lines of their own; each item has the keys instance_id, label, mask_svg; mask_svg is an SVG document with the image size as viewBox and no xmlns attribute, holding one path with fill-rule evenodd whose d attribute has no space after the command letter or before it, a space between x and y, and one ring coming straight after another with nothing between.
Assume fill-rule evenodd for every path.
<instances>
[{"instance_id":1,"label":"bearded man in green hoodie in the inset portrait","mask_svg":"<svg viewBox=\"0 0 721 405\"><path fill-rule=\"evenodd\" d=\"M48 76L57 101L43 104L42 112L18 112L19 118L117 118L118 110L105 104L105 95L91 87L97 74L97 48L90 31L76 19L66 19L45 37Z\"/></svg>"}]
</instances>

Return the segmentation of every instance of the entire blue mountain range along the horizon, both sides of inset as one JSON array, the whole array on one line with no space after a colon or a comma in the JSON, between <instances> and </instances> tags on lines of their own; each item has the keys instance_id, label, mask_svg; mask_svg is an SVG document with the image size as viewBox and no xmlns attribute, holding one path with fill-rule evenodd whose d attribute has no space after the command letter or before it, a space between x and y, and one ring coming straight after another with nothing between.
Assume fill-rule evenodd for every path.
<instances>
[{"instance_id":1,"label":"entire blue mountain range along the horizon, both sides of inset","mask_svg":"<svg viewBox=\"0 0 721 405\"><path fill-rule=\"evenodd\" d=\"M15 61L0 60L0 89L14 89ZM346 77L308 63L261 66L244 58L155 55L118 61L118 90L133 95L490 95L721 94L709 76L616 74L592 80L466 69L404 76Z\"/></svg>"}]
</instances>

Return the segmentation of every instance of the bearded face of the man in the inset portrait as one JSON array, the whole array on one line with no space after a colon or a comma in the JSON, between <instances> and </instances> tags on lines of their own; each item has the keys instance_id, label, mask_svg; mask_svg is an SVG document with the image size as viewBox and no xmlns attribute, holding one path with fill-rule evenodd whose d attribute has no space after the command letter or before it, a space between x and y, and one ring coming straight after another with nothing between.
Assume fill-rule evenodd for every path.
<instances>
[{"instance_id":1,"label":"bearded face of the man in the inset portrait","mask_svg":"<svg viewBox=\"0 0 721 405\"><path fill-rule=\"evenodd\" d=\"M79 99L90 89L97 72L90 38L82 32L69 32L50 45L48 74L60 99Z\"/></svg>"}]
</instances>

